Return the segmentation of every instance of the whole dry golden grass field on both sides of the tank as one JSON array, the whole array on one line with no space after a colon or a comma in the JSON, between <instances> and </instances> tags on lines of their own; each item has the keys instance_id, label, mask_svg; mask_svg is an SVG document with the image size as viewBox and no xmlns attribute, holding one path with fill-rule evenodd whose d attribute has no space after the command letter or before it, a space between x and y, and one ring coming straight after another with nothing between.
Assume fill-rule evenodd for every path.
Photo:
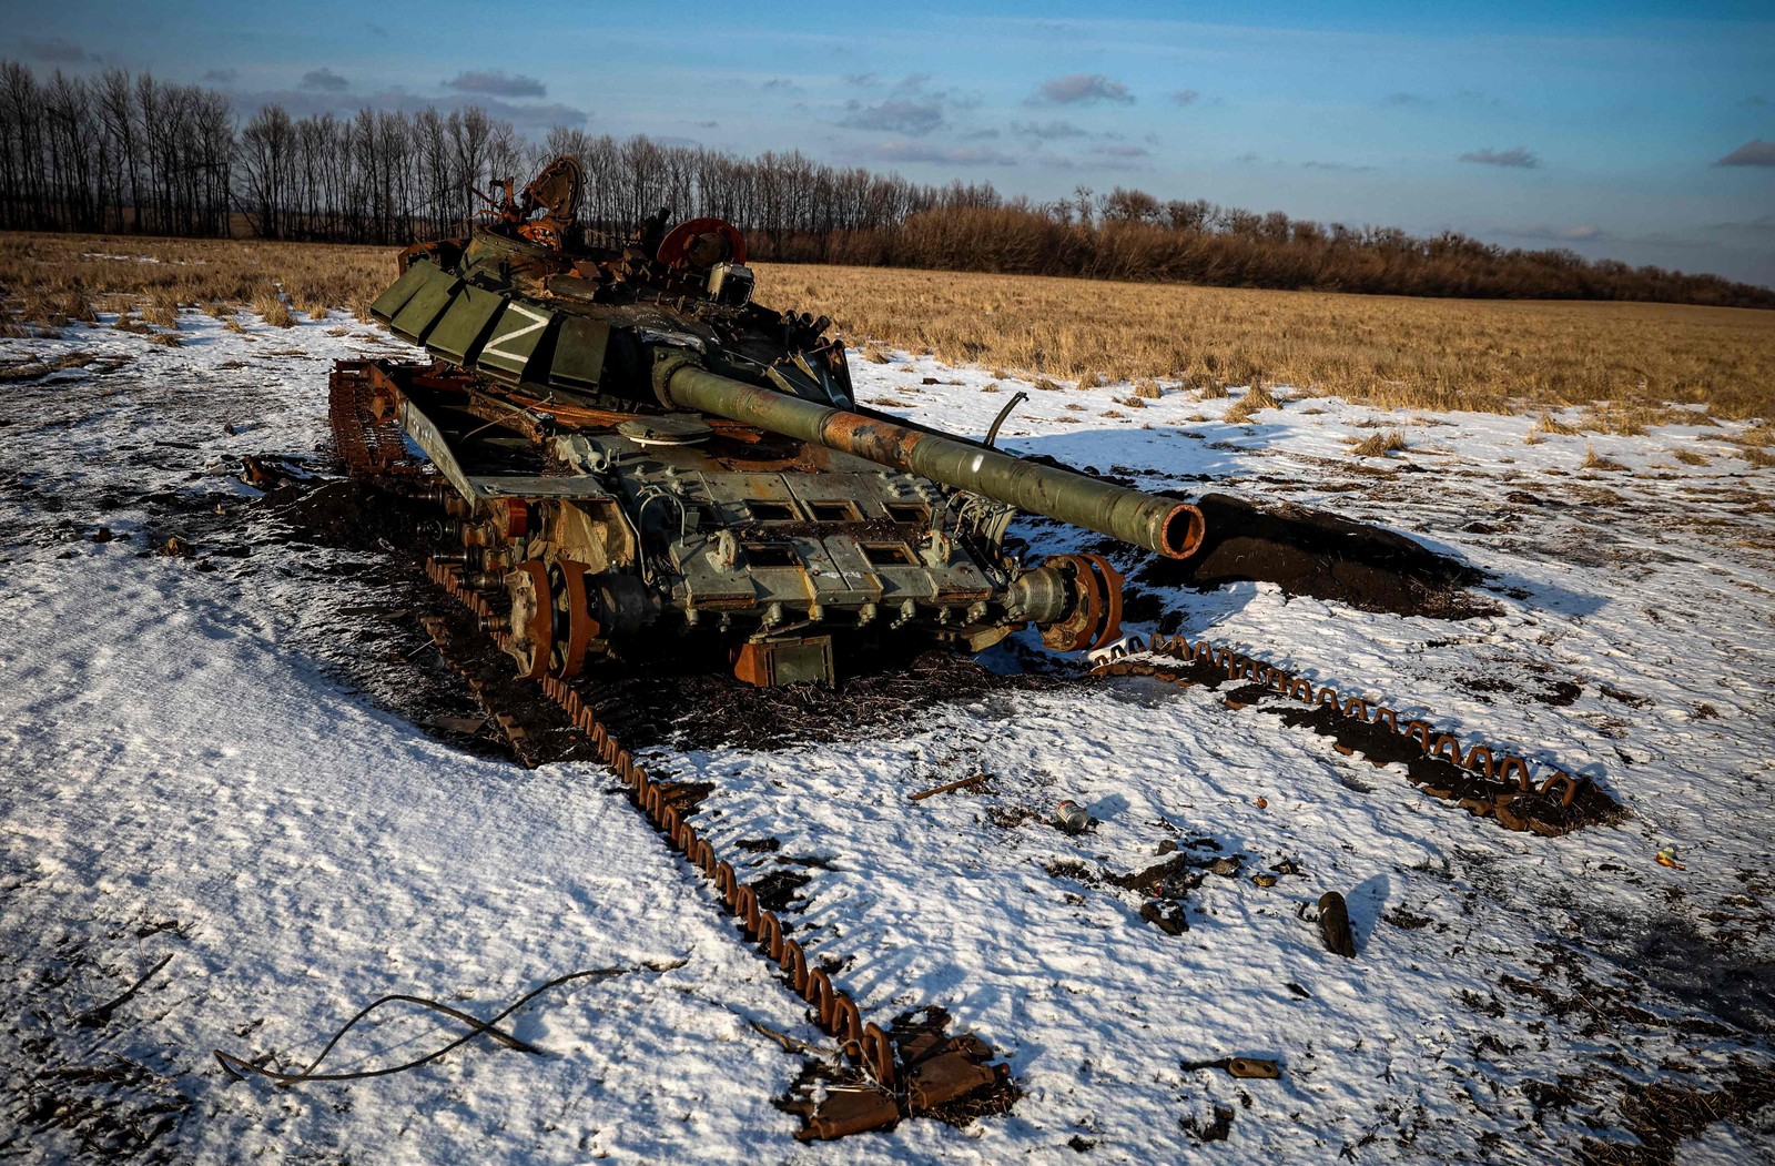
<instances>
[{"instance_id":1,"label":"whole dry golden grass field on both sides of the tank","mask_svg":"<svg viewBox=\"0 0 1775 1166\"><path fill-rule=\"evenodd\" d=\"M0 234L5 327L176 305L364 314L394 248L229 240ZM1667 403L1775 415L1775 312L1663 303L1411 300L1118 284L1030 275L760 264L760 300L831 316L845 335L1136 394L1290 385L1400 408L1587 406L1633 433ZM1761 429L1768 431L1768 429Z\"/></svg>"}]
</instances>

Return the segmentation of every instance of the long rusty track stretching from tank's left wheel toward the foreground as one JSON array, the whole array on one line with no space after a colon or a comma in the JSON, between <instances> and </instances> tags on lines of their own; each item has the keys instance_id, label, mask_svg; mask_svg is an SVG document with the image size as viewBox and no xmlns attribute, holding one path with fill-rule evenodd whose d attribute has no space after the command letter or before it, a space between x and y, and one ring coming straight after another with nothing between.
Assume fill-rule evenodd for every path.
<instances>
[{"instance_id":1,"label":"long rusty track stretching from tank's left wheel toward the foreground","mask_svg":"<svg viewBox=\"0 0 1775 1166\"><path fill-rule=\"evenodd\" d=\"M453 564L428 559L426 573L476 616L493 614L481 593L462 586L460 573ZM424 623L424 628L438 644L444 660L453 662L451 632L446 621L433 618ZM490 632L488 635L501 648L509 639L504 632ZM673 800L674 783L655 781L635 763L573 685L543 676L538 687L586 733L598 760L628 786L630 804L650 818L667 845L683 854L714 884L722 907L738 918L747 939L760 946L765 958L786 973L790 987L813 1008L818 1026L838 1038L845 1058L870 1083L861 1090L829 1090L827 1099L806 1115L806 1127L797 1132L797 1138L843 1138L879 1129L902 1116L935 1109L1006 1079L1006 1067L992 1065L996 1054L973 1035L951 1036L934 1049L921 1047L914 1052L900 1049L879 1024L864 1022L856 1001L834 987L832 978L824 969L808 964L806 949L785 934L783 921L776 912L760 909L758 891L742 882L733 864L717 855L708 839L701 838L696 827L680 815ZM477 690L476 696L485 705L485 690ZM502 717L493 708L488 712L495 724L508 731L513 749L522 758L525 754L522 729L518 735L511 735L508 728L511 717ZM902 1065L902 1060L907 1063Z\"/></svg>"}]
</instances>

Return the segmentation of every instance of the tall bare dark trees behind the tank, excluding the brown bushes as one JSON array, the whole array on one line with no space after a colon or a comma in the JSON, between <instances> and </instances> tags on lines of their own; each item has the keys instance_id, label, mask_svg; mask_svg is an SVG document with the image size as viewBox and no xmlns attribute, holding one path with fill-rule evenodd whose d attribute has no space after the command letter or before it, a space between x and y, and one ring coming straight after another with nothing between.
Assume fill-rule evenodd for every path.
<instances>
[{"instance_id":1,"label":"tall bare dark trees behind the tank, excluding the brown bushes","mask_svg":"<svg viewBox=\"0 0 1775 1166\"><path fill-rule=\"evenodd\" d=\"M557 154L586 167L588 227L628 232L662 206L717 215L754 236L760 257L818 259L845 232L999 202L985 185L925 186L799 151L737 158L570 128L536 142L476 106L291 117L266 105L238 119L192 85L121 69L39 83L0 64L5 229L227 234L234 211L261 238L412 243L458 231L485 208L476 192L522 185Z\"/></svg>"}]
</instances>

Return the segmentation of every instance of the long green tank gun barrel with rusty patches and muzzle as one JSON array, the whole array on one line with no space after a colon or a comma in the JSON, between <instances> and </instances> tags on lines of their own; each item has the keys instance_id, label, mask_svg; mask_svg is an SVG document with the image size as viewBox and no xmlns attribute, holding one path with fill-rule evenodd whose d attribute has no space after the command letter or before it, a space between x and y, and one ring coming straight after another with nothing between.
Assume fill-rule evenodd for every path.
<instances>
[{"instance_id":1,"label":"long green tank gun barrel with rusty patches and muzzle","mask_svg":"<svg viewBox=\"0 0 1775 1166\"><path fill-rule=\"evenodd\" d=\"M1047 515L1108 534L1170 559L1187 557L1202 541L1202 511L1189 502L1127 490L973 442L747 385L699 367L682 351L657 357L653 389L667 408L714 414L815 442L1031 515Z\"/></svg>"}]
</instances>

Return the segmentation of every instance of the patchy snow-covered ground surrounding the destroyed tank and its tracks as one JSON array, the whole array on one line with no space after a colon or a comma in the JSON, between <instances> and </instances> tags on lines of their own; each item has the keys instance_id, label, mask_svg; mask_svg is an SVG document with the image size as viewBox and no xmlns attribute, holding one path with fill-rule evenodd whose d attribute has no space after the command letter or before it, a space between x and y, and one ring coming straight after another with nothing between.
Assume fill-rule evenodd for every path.
<instances>
[{"instance_id":1,"label":"patchy snow-covered ground surrounding the destroyed tank and its tracks","mask_svg":"<svg viewBox=\"0 0 1775 1166\"><path fill-rule=\"evenodd\" d=\"M330 362L401 346L339 316L181 327L181 346L110 327L0 343L0 1154L1560 1161L1635 1131L1638 1161L1775 1154L1775 470L1734 453L1736 426L1528 444L1532 417L1335 399L1227 424L1237 394L1134 408L1127 385L854 358L882 408L983 433L1024 389L1012 449L1326 506L1487 571L1496 612L1459 623L1134 586L1193 634L1558 760L1631 815L1511 834L1260 710L1134 678L907 706L838 742L659 751L715 784L717 847L777 839L747 877L808 878L790 916L868 1017L941 1004L1024 1091L966 1129L801 1145L770 1104L801 1061L753 1022L820 1033L612 779L525 772L387 712L343 664L376 655L399 683L426 648L376 564L295 566L259 538L240 458L325 472ZM1376 426L1408 449L1353 458ZM1582 469L1590 449L1621 469ZM147 554L193 524L195 557ZM1092 832L1045 823L1065 797ZM1111 880L1166 843L1242 864L1189 894L1180 937ZM1654 863L1667 847L1684 870ZM1301 873L1251 882L1283 861ZM1354 960L1301 916L1328 889ZM490 1015L577 969L621 974L515 1019L545 1058L476 1042L275 1090L209 1056L300 1067L382 994ZM449 1036L408 1013L330 1065ZM1182 1068L1237 1054L1282 1077Z\"/></svg>"}]
</instances>

